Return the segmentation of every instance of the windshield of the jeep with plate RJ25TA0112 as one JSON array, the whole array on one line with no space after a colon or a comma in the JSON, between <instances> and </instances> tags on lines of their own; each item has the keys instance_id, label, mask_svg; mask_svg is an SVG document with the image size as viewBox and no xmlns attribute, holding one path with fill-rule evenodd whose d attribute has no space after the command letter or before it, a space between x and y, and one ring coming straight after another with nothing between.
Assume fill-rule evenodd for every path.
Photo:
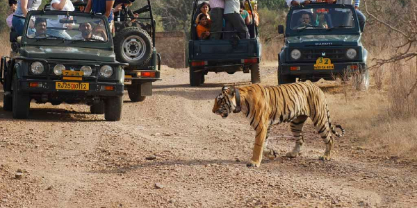
<instances>
[{"instance_id":1,"label":"windshield of the jeep with plate RJ25TA0112","mask_svg":"<svg viewBox=\"0 0 417 208\"><path fill-rule=\"evenodd\" d=\"M33 40L35 44L108 42L108 26L102 15L47 11L32 12L28 19L30 22L25 32L28 42Z\"/></svg>"}]
</instances>

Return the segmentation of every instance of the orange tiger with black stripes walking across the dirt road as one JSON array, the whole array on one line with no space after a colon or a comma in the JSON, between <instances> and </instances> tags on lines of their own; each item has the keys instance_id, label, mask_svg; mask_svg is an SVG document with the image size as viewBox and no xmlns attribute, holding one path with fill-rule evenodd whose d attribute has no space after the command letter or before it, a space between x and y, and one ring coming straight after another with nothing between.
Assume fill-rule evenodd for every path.
<instances>
[{"instance_id":1,"label":"orange tiger with black stripes walking across the dirt road","mask_svg":"<svg viewBox=\"0 0 417 208\"><path fill-rule=\"evenodd\" d=\"M332 125L329 109L322 90L311 82L299 82L279 86L262 86L259 84L245 87L222 87L222 92L215 97L213 113L226 119L231 113L242 112L256 131L252 159L248 167L259 167L262 157L275 159L277 153L268 148L270 127L279 123L290 123L295 138L295 147L286 157L300 154L304 137L302 128L310 118L326 145L321 160L332 159L334 137L343 137L345 129L341 125ZM341 133L336 132L339 128Z\"/></svg>"}]
</instances>

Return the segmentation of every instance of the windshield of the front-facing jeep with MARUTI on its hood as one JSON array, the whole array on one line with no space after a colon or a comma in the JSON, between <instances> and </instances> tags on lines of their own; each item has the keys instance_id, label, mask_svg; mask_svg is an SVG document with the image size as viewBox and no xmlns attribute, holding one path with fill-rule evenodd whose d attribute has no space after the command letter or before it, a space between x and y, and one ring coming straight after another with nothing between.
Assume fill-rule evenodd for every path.
<instances>
[{"instance_id":1,"label":"windshield of the front-facing jeep with MARUTI on its hood","mask_svg":"<svg viewBox=\"0 0 417 208\"><path fill-rule=\"evenodd\" d=\"M288 14L291 35L359 33L352 6L314 5L293 8Z\"/></svg>"}]
</instances>

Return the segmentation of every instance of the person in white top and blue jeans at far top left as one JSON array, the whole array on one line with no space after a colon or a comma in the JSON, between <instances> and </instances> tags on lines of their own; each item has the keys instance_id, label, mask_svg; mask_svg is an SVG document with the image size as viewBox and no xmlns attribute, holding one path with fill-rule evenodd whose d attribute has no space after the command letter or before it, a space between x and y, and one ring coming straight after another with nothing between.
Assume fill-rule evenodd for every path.
<instances>
[{"instance_id":1,"label":"person in white top and blue jeans at far top left","mask_svg":"<svg viewBox=\"0 0 417 208\"><path fill-rule=\"evenodd\" d=\"M17 8L12 19L12 26L19 34L23 34L24 20L28 11L38 10L42 0L19 0L17 1Z\"/></svg>"}]
</instances>

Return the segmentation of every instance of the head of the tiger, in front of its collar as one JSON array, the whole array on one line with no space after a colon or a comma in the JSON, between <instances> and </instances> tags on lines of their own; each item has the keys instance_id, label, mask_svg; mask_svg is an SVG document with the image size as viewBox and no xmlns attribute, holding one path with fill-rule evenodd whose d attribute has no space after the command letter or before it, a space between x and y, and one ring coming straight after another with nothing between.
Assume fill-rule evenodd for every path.
<instances>
[{"instance_id":1,"label":"head of the tiger, in front of its collar","mask_svg":"<svg viewBox=\"0 0 417 208\"><path fill-rule=\"evenodd\" d=\"M214 99L213 113L226 119L230 112L236 112L236 88L223 87L222 93Z\"/></svg>"}]
</instances>

